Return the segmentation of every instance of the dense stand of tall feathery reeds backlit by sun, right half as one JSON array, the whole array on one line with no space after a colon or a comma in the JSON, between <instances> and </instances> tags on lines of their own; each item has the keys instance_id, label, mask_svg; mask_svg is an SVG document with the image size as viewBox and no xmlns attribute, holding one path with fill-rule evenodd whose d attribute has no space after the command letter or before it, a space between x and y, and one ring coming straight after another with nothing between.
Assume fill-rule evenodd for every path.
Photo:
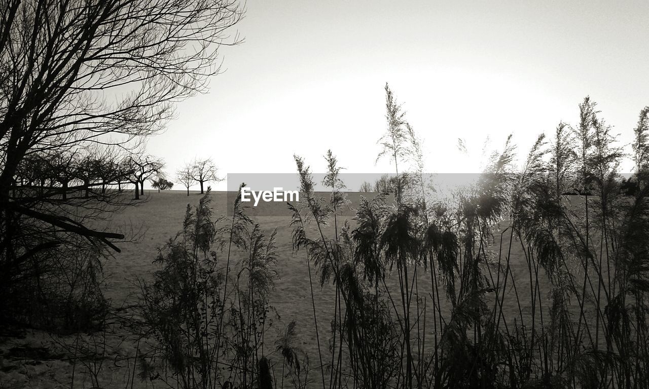
<instances>
[{"instance_id":1,"label":"dense stand of tall feathery reeds backlit by sun, right half","mask_svg":"<svg viewBox=\"0 0 649 389\"><path fill-rule=\"evenodd\" d=\"M317 198L297 159L307 201L291 206L295 247L341 296L332 338L343 346L330 357L345 363L330 364L330 388L644 387L647 110L635 130L633 197L620 190L615 135L586 98L578 124L560 123L549 142L539 136L520 169L508 139L472 187L431 201L421 143L387 86L386 108L380 156L395 167L394 201L361 198L355 228L339 229L335 192ZM427 296L418 272L430 272Z\"/></svg>"}]
</instances>

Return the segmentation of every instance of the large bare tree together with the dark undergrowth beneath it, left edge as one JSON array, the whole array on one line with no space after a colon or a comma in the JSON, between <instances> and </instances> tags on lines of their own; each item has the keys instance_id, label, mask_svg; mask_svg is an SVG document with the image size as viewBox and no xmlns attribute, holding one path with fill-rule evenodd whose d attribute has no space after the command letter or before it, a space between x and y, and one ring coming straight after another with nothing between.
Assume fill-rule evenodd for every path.
<instances>
[{"instance_id":1,"label":"large bare tree together with the dark undergrowth beneath it, left edge","mask_svg":"<svg viewBox=\"0 0 649 389\"><path fill-rule=\"evenodd\" d=\"M135 204L123 184L137 199L160 173L146 137L206 90L241 15L234 1L0 2L1 322L101 322L101 260L134 239L103 226Z\"/></svg>"}]
</instances>

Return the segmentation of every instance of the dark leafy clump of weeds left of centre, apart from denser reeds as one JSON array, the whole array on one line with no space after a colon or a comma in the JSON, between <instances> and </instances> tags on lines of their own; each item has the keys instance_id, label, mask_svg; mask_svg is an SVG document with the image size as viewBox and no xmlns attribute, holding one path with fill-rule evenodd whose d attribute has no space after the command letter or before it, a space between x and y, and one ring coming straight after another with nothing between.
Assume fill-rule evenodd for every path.
<instances>
[{"instance_id":1,"label":"dark leafy clump of weeds left of centre, apart from denser reeds","mask_svg":"<svg viewBox=\"0 0 649 389\"><path fill-rule=\"evenodd\" d=\"M153 282L141 281L143 333L156 340L144 357L149 377L181 388L267 385L275 232L265 237L237 212L214 220L210 205L209 190L196 209L188 205L182 231L160 248ZM245 253L236 277L230 250ZM220 253L227 255L225 268Z\"/></svg>"}]
</instances>

